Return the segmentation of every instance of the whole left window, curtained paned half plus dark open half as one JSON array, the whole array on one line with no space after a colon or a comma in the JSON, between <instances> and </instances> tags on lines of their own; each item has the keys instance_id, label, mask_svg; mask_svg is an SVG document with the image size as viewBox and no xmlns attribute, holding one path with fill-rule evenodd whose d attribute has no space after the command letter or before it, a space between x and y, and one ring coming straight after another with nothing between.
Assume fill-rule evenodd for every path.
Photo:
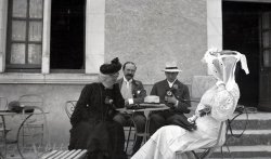
<instances>
[{"instance_id":1,"label":"whole left window, curtained paned half plus dark open half","mask_svg":"<svg viewBox=\"0 0 271 159\"><path fill-rule=\"evenodd\" d=\"M52 0L51 71L85 68L86 0ZM40 71L43 0L10 0L7 42L8 71Z\"/></svg>"}]
</instances>

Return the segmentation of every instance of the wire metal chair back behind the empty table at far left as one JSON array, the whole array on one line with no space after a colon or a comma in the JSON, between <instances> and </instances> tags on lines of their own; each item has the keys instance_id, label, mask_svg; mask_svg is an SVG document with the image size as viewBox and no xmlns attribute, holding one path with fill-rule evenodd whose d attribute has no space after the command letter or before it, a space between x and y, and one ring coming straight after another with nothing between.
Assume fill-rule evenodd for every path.
<instances>
[{"instance_id":1,"label":"wire metal chair back behind the empty table at far left","mask_svg":"<svg viewBox=\"0 0 271 159\"><path fill-rule=\"evenodd\" d=\"M23 112L20 116L22 123L17 131L17 138L22 142L22 146L34 143L42 145L46 138L47 143L50 143L43 97L39 94L24 94L17 102Z\"/></svg>"}]
</instances>

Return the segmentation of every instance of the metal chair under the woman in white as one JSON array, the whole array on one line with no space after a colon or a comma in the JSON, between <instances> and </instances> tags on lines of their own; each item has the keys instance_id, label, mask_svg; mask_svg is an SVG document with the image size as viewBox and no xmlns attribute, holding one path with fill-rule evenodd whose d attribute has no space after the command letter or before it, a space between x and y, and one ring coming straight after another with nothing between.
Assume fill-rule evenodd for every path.
<instances>
[{"instance_id":1,"label":"metal chair under the woman in white","mask_svg":"<svg viewBox=\"0 0 271 159\"><path fill-rule=\"evenodd\" d=\"M196 153L196 150L192 150L192 154L194 155L194 157L196 159L207 159L217 148L222 147L225 142L225 140L223 140L227 133L225 130L227 130L227 125L225 125L225 121L223 121L220 124L216 144L211 147L203 147L203 148L196 149L198 150L198 153ZM178 154L181 154L181 153L179 151L176 153L177 159L178 159Z\"/></svg>"}]
</instances>

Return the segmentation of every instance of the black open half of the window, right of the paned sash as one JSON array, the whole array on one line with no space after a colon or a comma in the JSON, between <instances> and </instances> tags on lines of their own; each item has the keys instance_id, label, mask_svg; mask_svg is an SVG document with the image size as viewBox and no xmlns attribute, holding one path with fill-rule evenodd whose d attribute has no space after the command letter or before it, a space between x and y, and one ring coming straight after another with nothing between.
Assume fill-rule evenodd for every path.
<instances>
[{"instance_id":1,"label":"black open half of the window, right of the paned sash","mask_svg":"<svg viewBox=\"0 0 271 159\"><path fill-rule=\"evenodd\" d=\"M50 68L85 68L85 1L52 0Z\"/></svg>"}]
</instances>

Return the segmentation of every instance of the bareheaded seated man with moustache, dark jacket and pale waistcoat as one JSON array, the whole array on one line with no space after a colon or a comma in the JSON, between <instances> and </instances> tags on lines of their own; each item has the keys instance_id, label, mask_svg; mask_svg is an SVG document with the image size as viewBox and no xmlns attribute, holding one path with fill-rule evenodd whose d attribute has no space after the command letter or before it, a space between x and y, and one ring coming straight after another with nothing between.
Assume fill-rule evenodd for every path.
<instances>
[{"instance_id":1,"label":"bareheaded seated man with moustache, dark jacket and pale waistcoat","mask_svg":"<svg viewBox=\"0 0 271 159\"><path fill-rule=\"evenodd\" d=\"M125 105L127 107L133 104L141 104L144 102L146 91L141 81L134 80L137 66L132 62L127 62L122 66L124 77L117 80L122 97L125 98ZM131 116L126 114L119 114L114 118L115 121L121 123L124 127L130 125ZM136 123L137 132L143 133L145 130L146 118L143 112L134 112L133 122ZM141 146L143 137L137 136L136 144L132 149L132 154L137 153Z\"/></svg>"}]
</instances>

